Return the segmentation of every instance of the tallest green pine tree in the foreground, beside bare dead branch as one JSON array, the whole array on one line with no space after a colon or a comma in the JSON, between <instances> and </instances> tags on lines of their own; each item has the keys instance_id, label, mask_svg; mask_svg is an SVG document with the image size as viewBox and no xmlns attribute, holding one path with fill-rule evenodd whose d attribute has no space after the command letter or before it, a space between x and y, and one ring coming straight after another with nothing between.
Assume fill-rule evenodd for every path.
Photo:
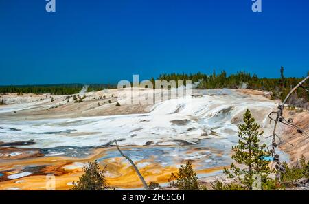
<instances>
[{"instance_id":1,"label":"tallest green pine tree in the foreground, beside bare dead branch","mask_svg":"<svg viewBox=\"0 0 309 204\"><path fill-rule=\"evenodd\" d=\"M255 174L261 177L261 186L267 185L268 174L271 173L269 168L270 161L266 160L271 154L266 148L266 144L260 144L259 137L263 131L259 131L260 126L255 122L254 117L247 109L244 113L244 124L238 126L238 145L233 146L235 154L231 157L242 167L235 166L231 163L231 168L225 168L225 174L229 178L236 178L247 190L252 190Z\"/></svg>"}]
</instances>

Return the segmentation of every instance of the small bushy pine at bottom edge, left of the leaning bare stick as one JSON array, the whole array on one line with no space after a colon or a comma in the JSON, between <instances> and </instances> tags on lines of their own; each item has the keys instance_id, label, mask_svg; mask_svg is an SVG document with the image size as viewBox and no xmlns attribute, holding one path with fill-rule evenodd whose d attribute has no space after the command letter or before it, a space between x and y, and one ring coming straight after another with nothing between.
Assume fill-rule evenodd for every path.
<instances>
[{"instance_id":1,"label":"small bushy pine at bottom edge, left of the leaning bare stick","mask_svg":"<svg viewBox=\"0 0 309 204\"><path fill-rule=\"evenodd\" d=\"M106 190L108 188L105 179L105 168L100 170L98 162L88 162L87 166L82 168L84 174L80 177L80 181L73 183L71 190Z\"/></svg>"}]
</instances>

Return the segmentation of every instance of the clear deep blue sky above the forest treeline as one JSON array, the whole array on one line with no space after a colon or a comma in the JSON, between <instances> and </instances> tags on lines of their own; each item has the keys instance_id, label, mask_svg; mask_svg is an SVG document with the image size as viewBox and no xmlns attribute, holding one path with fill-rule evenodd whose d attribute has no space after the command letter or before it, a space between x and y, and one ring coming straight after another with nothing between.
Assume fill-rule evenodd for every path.
<instances>
[{"instance_id":1,"label":"clear deep blue sky above the forest treeline","mask_svg":"<svg viewBox=\"0 0 309 204\"><path fill-rule=\"evenodd\" d=\"M309 69L309 1L0 0L0 84L116 83L159 73Z\"/></svg>"}]
</instances>

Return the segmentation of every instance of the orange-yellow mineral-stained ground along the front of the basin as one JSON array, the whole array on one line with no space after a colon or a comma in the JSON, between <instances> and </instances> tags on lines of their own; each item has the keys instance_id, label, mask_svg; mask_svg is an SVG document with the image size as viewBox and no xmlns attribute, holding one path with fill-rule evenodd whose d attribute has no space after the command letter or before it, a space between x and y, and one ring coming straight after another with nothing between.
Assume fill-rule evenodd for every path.
<instances>
[{"instance_id":1,"label":"orange-yellow mineral-stained ground along the front of the basin","mask_svg":"<svg viewBox=\"0 0 309 204\"><path fill-rule=\"evenodd\" d=\"M30 159L14 159L0 163L0 168L5 170L12 170L19 166L23 168L25 166L46 166L41 170L40 175L30 175L19 179L12 179L0 182L0 190L6 190L10 188L19 190L46 190L47 186L47 174L55 174L55 187L56 190L69 190L72 188L72 182L78 181L82 176L82 164L86 164L88 161L95 161L106 155L106 150L114 148L98 148L95 149L89 157L86 158L72 158L72 157L35 157ZM147 183L167 183L172 172L177 172L175 166L161 166L160 163L155 162L155 157L150 159L144 159L135 163L143 175ZM175 163L181 164L181 163ZM135 189L143 188L139 177L130 163L124 157L113 157L104 159L99 162L100 168L106 167L106 180L108 185L121 189ZM193 161L193 166L198 166ZM198 174L207 174L222 170L223 167L207 168L203 170L197 170ZM9 174L16 174L18 171L5 172L5 176Z\"/></svg>"}]
</instances>

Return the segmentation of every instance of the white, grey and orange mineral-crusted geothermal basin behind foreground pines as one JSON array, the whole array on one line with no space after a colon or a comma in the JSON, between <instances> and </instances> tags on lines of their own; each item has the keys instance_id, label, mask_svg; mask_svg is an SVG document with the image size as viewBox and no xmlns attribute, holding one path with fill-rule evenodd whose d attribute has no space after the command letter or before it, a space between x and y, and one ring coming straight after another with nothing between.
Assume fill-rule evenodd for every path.
<instances>
[{"instance_id":1,"label":"white, grey and orange mineral-crusted geothermal basin behind foreground pines","mask_svg":"<svg viewBox=\"0 0 309 204\"><path fill-rule=\"evenodd\" d=\"M25 104L0 108L0 114L29 108ZM128 161L113 146L115 139L148 175L146 181L166 183L170 172L187 160L199 177L216 174L231 163L231 146L238 141L237 125L246 109L268 136L267 115L275 103L234 91L198 91L198 97L165 100L143 114L38 120L1 117L0 189L44 188L39 178L47 173L59 177L60 189L70 188L82 165L94 159L108 166L111 183L139 188ZM129 177L135 177L131 185ZM25 179L41 184L23 185Z\"/></svg>"}]
</instances>

